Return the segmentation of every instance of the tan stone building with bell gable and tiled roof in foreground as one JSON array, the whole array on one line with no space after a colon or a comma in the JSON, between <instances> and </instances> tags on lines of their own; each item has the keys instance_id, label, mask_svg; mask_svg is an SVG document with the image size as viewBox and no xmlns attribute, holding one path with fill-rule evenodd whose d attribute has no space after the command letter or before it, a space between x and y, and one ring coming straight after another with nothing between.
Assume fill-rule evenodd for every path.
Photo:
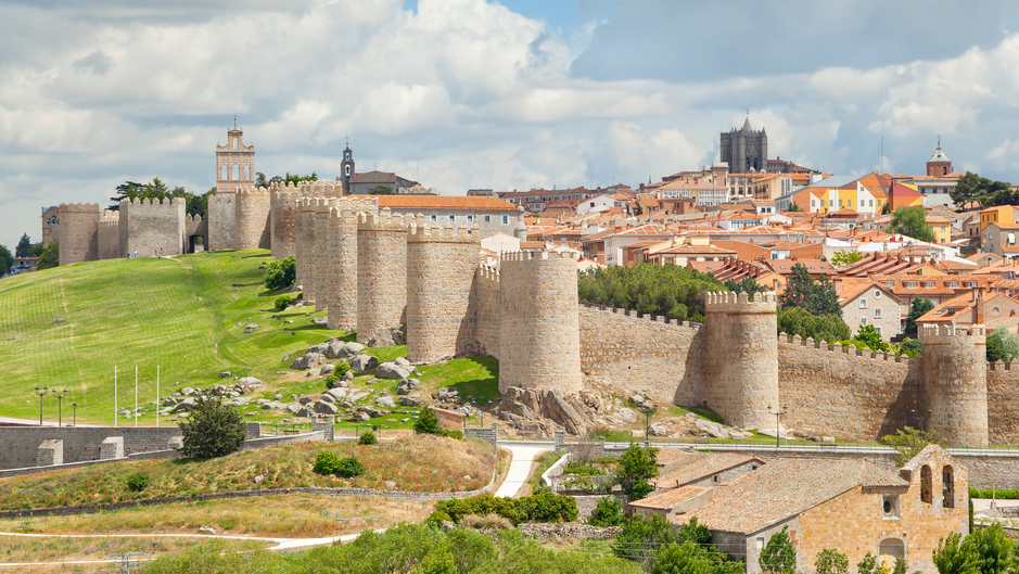
<instances>
[{"instance_id":1,"label":"tan stone building with bell gable and tiled roof in foreground","mask_svg":"<svg viewBox=\"0 0 1019 574\"><path fill-rule=\"evenodd\" d=\"M773 534L789 527L797 571L814 571L825 548L856 564L869 552L903 558L907 571L934 574L931 554L941 537L969 534L969 473L930 445L897 474L865 460L778 458L714 488L709 505L691 515L712 531L712 541L747 572Z\"/></svg>"}]
</instances>

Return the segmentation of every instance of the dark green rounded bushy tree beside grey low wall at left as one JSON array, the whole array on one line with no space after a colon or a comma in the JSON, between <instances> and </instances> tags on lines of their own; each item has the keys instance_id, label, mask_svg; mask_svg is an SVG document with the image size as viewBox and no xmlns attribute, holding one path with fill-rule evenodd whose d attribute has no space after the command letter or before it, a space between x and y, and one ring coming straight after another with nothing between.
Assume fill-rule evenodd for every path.
<instances>
[{"instance_id":1,"label":"dark green rounded bushy tree beside grey low wall at left","mask_svg":"<svg viewBox=\"0 0 1019 574\"><path fill-rule=\"evenodd\" d=\"M240 450L247 436L241 413L218 398L200 397L187 422L180 423L183 446L190 458L214 458Z\"/></svg>"}]
</instances>

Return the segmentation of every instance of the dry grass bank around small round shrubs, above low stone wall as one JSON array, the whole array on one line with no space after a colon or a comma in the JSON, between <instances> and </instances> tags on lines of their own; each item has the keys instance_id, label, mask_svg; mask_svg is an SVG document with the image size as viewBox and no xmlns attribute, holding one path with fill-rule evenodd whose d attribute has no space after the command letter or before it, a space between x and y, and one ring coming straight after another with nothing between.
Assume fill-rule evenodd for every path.
<instances>
[{"instance_id":1,"label":"dry grass bank around small round shrubs, above low stone wall","mask_svg":"<svg viewBox=\"0 0 1019 574\"><path fill-rule=\"evenodd\" d=\"M315 458L323 449L341 457L353 454L365 465L365 473L354 479L316 474L311 470ZM136 460L12 476L0 480L0 507L49 508L309 486L420 493L474 490L488 484L496 463L495 448L471 437L457 441L418 435L372 446L296 443L209 460ZM132 493L127 488L127 476L135 472L149 474L147 489ZM263 477L257 484L256 476Z\"/></svg>"}]
</instances>

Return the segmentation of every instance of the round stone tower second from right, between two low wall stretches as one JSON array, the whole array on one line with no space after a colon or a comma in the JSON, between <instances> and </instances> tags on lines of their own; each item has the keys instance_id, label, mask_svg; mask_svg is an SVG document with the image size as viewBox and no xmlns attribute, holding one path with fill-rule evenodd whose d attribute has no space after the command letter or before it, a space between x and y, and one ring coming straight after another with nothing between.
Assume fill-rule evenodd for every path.
<instances>
[{"instance_id":1,"label":"round stone tower second from right, between two low wall stretches","mask_svg":"<svg viewBox=\"0 0 1019 574\"><path fill-rule=\"evenodd\" d=\"M778 315L775 293L706 293L708 406L727 424L767 429L778 397Z\"/></svg>"}]
</instances>

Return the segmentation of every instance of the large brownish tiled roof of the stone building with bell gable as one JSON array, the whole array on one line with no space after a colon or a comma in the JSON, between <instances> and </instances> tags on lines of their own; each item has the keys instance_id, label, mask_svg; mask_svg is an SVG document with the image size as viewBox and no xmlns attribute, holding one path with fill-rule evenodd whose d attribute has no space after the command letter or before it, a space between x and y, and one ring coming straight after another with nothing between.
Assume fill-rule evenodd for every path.
<instances>
[{"instance_id":1,"label":"large brownish tiled roof of the stone building with bell gable","mask_svg":"<svg viewBox=\"0 0 1019 574\"><path fill-rule=\"evenodd\" d=\"M713 500L691 514L712 531L751 534L859 486L909 483L863 460L778 458L716 486Z\"/></svg>"}]
</instances>

